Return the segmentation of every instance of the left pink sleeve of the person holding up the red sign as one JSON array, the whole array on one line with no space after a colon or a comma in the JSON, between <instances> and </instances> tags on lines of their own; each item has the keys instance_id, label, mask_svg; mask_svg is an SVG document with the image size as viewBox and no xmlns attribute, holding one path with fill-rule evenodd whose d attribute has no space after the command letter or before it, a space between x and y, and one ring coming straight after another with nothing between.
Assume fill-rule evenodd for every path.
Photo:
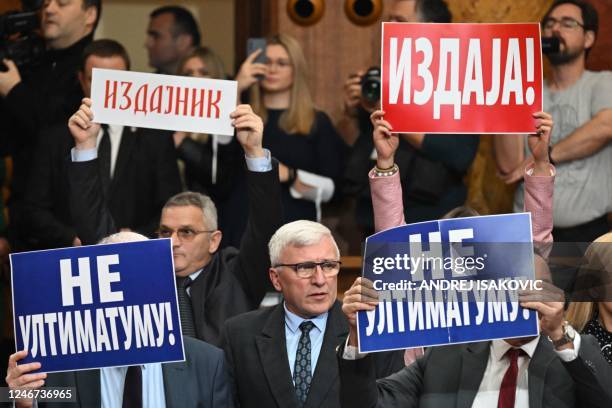
<instances>
[{"instance_id":1,"label":"left pink sleeve of the person holding up the red sign","mask_svg":"<svg viewBox=\"0 0 612 408\"><path fill-rule=\"evenodd\" d=\"M399 171L392 176L376 177L372 170L369 178L376 232L406 224Z\"/></svg>"}]
</instances>

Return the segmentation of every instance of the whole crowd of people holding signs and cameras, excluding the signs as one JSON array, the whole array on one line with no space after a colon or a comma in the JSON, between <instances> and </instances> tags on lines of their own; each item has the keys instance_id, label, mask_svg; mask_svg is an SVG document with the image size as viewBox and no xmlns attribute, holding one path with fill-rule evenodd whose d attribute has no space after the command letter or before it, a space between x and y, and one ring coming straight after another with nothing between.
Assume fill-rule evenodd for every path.
<instances>
[{"instance_id":1,"label":"whole crowd of people holding signs and cameras, excluding the signs","mask_svg":"<svg viewBox=\"0 0 612 408\"><path fill-rule=\"evenodd\" d=\"M392 133L363 96L365 67L347 78L334 123L315 105L295 38L270 35L232 75L181 6L150 14L149 65L236 80L234 135L101 125L92 70L130 70L120 42L93 40L101 11L101 0L45 1L40 63L2 61L0 152L13 167L0 260L171 238L186 361L45 374L12 349L9 387L75 387L82 407L612 406L612 73L586 69L599 26L587 1L556 0L543 17L542 36L560 42L547 55L545 112L533 134L496 136L493 152L500 177L518 184L515 211L531 212L534 243L592 242L569 283L537 251L538 277L572 295L523 295L536 337L372 354L358 352L356 312L378 295L358 278L338 299L325 204L355 199L363 237L477 215L464 204L479 135ZM387 21L452 16L444 0L392 0ZM280 296L262 307L269 292Z\"/></svg>"}]
</instances>

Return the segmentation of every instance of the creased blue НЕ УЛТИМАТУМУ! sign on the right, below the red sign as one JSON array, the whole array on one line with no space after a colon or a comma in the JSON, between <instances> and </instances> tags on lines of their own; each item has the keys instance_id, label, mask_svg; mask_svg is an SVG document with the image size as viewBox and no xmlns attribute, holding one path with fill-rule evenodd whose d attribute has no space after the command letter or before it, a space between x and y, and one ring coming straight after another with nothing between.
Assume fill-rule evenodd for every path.
<instances>
[{"instance_id":1,"label":"creased blue \u041d\u0415 \u0423\u041b\u0422\u0418\u041c\u0410\u0422\u0423\u041c\u0423! sign on the right, below the red sign","mask_svg":"<svg viewBox=\"0 0 612 408\"><path fill-rule=\"evenodd\" d=\"M377 308L359 312L361 352L535 336L518 291L535 280L529 213L404 225L366 239Z\"/></svg>"}]
</instances>

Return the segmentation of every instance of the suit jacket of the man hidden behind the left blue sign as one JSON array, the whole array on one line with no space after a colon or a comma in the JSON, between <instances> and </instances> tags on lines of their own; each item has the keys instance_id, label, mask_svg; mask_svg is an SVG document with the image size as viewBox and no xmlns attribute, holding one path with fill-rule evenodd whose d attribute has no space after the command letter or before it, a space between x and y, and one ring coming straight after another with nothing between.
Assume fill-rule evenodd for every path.
<instances>
[{"instance_id":1,"label":"suit jacket of the man hidden behind the left blue sign","mask_svg":"<svg viewBox=\"0 0 612 408\"><path fill-rule=\"evenodd\" d=\"M223 352L203 341L183 337L185 361L162 364L166 406L231 407ZM49 408L100 407L100 370L49 374L47 387L75 387L76 403L40 403Z\"/></svg>"}]
</instances>

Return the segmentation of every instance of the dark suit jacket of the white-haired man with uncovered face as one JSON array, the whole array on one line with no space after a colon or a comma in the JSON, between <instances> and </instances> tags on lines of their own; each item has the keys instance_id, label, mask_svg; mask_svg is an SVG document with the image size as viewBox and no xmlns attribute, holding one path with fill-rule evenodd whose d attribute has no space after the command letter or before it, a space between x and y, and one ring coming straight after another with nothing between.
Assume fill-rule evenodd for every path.
<instances>
[{"instance_id":1,"label":"dark suit jacket of the white-haired man with uncovered face","mask_svg":"<svg viewBox=\"0 0 612 408\"><path fill-rule=\"evenodd\" d=\"M305 408L340 406L336 348L346 340L348 329L341 304L336 302L327 317ZM242 408L299 406L287 357L282 304L230 319L223 329L222 344L230 380L235 387L235 399ZM403 351L379 353L374 359L379 377L404 366Z\"/></svg>"}]
</instances>

